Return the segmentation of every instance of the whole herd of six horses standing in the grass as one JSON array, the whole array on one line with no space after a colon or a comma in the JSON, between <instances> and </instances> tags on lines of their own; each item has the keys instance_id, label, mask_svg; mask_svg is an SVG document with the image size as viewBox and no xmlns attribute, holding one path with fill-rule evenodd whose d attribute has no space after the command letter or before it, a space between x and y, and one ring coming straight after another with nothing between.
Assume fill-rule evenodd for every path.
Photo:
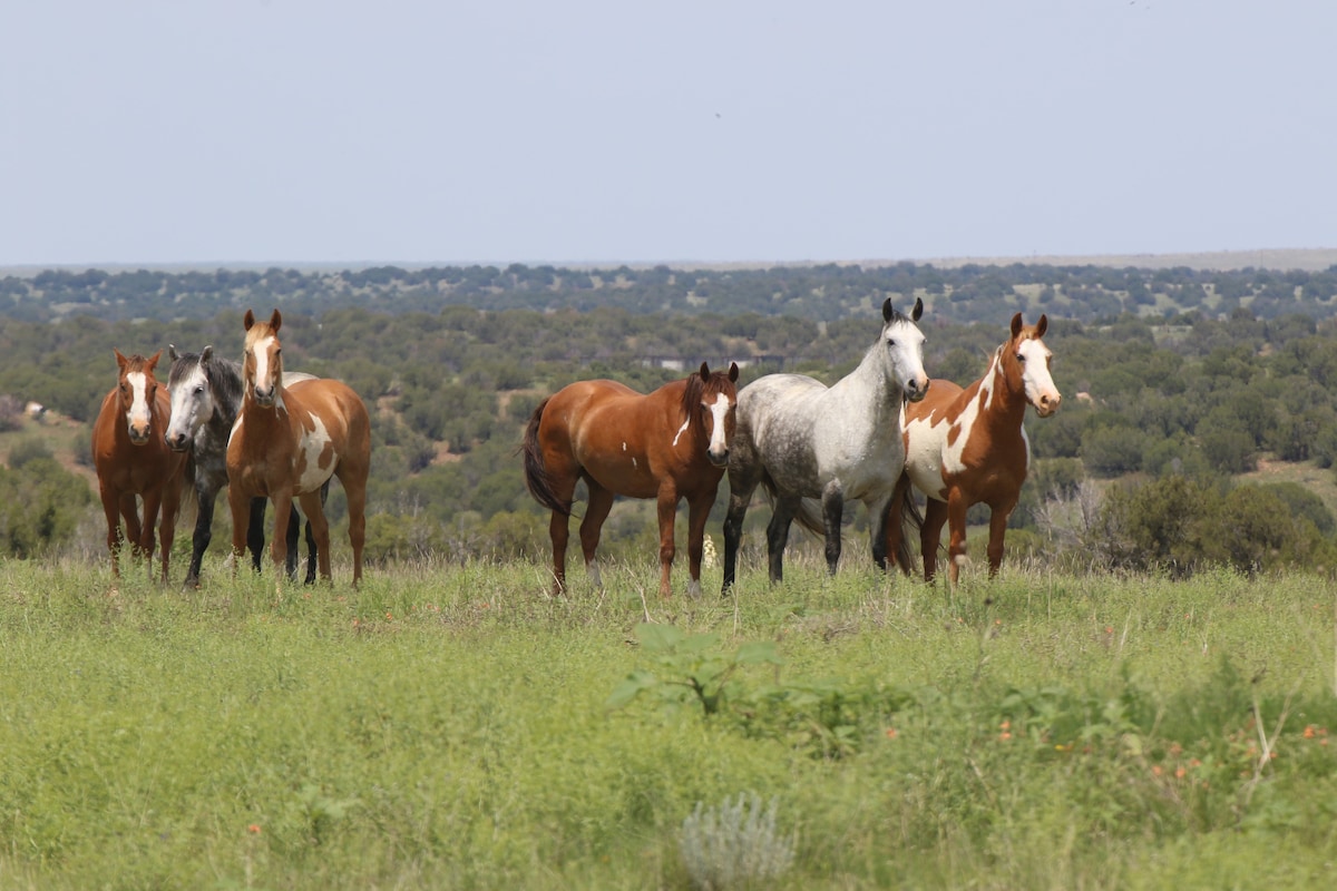
<instances>
[{"instance_id":1,"label":"whole herd of six horses standing in the grass","mask_svg":"<svg viewBox=\"0 0 1337 891\"><path fill-rule=\"evenodd\" d=\"M659 593L670 594L678 504L687 501L689 594L701 594L706 521L721 481L729 480L723 524L723 590L734 585L743 520L758 486L771 506L766 526L769 576L783 576L783 552L794 521L825 540L828 570L841 556L845 502L868 509L874 562L894 560L912 573L905 526L919 528L923 573L932 581L943 526L949 530L948 578L957 582L965 560L967 510L989 508L989 576L1003 561L1007 521L1029 468L1023 419L1059 409L1044 345L1048 319L1025 325L1012 317L1008 338L984 375L961 387L924 371L924 311L906 314L888 299L877 341L848 375L825 386L801 374L765 374L738 387L738 365L707 363L685 379L643 395L615 381L579 381L544 399L520 443L524 482L551 512L552 592L566 590L566 552L576 488L587 501L580 521L586 570L599 585L595 552L618 496L654 498L659 521ZM324 504L338 478L348 498L353 584L362 577L370 421L366 406L340 381L286 373L278 331L247 310L242 362L206 346L178 354L167 386L150 358L116 351L119 381L94 423L92 452L107 516L112 578L119 577L124 537L148 561L154 526L162 544L160 578L182 497L197 502L187 586L199 585L214 504L223 485L233 518L233 572L249 549L261 568L267 502L274 505L270 557L275 577L295 578L301 521L306 514L306 581L330 580L329 522ZM920 516L912 489L924 494ZM136 516L136 497L143 520ZM278 534L282 530L283 534ZM115 582L114 582L115 584Z\"/></svg>"}]
</instances>

